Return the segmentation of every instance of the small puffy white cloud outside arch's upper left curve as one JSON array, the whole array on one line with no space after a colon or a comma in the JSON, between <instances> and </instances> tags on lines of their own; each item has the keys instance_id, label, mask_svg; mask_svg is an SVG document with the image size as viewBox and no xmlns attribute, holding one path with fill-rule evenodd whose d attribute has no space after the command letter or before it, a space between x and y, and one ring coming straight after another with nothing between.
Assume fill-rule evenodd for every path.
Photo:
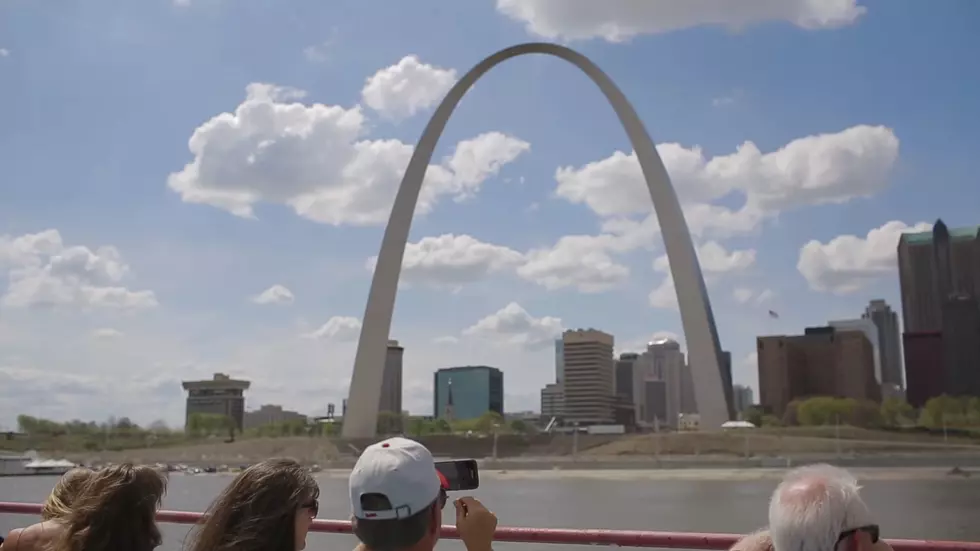
<instances>
[{"instance_id":1,"label":"small puffy white cloud outside arch's upper left curve","mask_svg":"<svg viewBox=\"0 0 980 551\"><path fill-rule=\"evenodd\" d=\"M434 106L453 84L455 69L442 69L408 55L368 77L361 98L383 116L402 119Z\"/></svg>"}]
</instances>

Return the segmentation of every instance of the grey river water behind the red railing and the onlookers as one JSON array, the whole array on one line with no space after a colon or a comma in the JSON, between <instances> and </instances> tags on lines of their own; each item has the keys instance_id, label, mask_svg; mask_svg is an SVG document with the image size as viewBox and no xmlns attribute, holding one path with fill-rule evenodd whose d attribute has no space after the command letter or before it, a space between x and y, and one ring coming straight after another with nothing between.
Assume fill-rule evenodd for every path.
<instances>
[{"instance_id":1,"label":"grey river water behind the red railing and the onlookers","mask_svg":"<svg viewBox=\"0 0 980 551\"><path fill-rule=\"evenodd\" d=\"M690 532L745 533L766 523L769 495L778 479L697 480L616 476L555 477L513 473L484 477L474 495L493 510L501 526L612 528ZM203 511L232 475L173 475L166 509ZM860 478L860 475L859 475ZM320 518L349 517L347 480L342 473L321 473ZM42 502L55 479L0 478L0 501ZM980 479L873 477L862 479L863 495L879 516L889 538L980 541ZM445 522L453 522L452 506ZM35 522L34 517L0 514L0 530ZM162 551L178 551L186 526L163 525ZM311 534L307 549L349 550L353 536ZM567 549L569 546L561 546ZM578 547L578 546L571 546ZM497 551L557 551L546 544L498 544ZM439 549L460 551L455 541ZM584 551L584 547L582 549Z\"/></svg>"}]
</instances>

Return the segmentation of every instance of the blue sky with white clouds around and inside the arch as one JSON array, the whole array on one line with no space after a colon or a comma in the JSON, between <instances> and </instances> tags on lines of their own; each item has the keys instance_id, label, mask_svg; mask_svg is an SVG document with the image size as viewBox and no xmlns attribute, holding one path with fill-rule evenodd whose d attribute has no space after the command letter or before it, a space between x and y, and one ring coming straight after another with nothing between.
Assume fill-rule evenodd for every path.
<instances>
[{"instance_id":1,"label":"blue sky with white clouds around and inside the arch","mask_svg":"<svg viewBox=\"0 0 980 551\"><path fill-rule=\"evenodd\" d=\"M601 4L0 3L0 425L179 423L178 381L214 371L251 378L250 406L339 403L412 144L456 78L529 40L589 56L676 144L736 382L756 384L756 335L900 308L902 231L978 222L980 5ZM630 151L560 60L466 96L392 328L411 410L459 363L536 408L561 328L621 350L682 333Z\"/></svg>"}]
</instances>

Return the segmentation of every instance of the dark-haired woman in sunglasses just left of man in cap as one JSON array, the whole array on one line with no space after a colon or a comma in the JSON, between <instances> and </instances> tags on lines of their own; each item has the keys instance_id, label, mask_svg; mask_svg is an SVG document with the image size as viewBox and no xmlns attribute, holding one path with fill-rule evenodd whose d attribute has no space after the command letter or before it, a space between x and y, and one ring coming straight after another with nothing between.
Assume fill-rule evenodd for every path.
<instances>
[{"instance_id":1,"label":"dark-haired woman in sunglasses just left of man in cap","mask_svg":"<svg viewBox=\"0 0 980 551\"><path fill-rule=\"evenodd\" d=\"M214 500L188 551L300 551L319 509L320 488L291 459L252 465Z\"/></svg>"}]
</instances>

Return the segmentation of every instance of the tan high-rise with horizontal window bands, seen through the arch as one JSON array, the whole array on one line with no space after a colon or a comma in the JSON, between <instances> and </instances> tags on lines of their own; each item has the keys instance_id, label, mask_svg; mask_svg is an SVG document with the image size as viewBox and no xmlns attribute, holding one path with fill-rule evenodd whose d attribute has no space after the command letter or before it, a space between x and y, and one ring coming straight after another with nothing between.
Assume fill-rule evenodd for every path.
<instances>
[{"instance_id":1,"label":"tan high-rise with horizontal window bands, seen through the arch","mask_svg":"<svg viewBox=\"0 0 980 551\"><path fill-rule=\"evenodd\" d=\"M565 420L581 425L613 422L613 336L595 329L562 334Z\"/></svg>"}]
</instances>

